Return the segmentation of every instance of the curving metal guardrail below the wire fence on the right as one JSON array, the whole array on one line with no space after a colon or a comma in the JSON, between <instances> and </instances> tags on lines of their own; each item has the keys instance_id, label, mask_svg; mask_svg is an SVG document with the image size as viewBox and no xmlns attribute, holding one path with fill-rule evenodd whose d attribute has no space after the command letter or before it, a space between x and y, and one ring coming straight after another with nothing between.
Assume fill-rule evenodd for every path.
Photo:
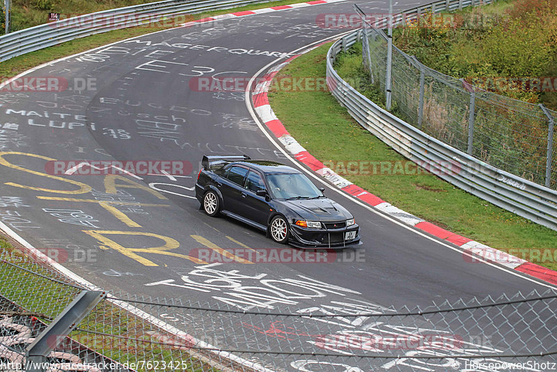
<instances>
[{"instance_id":1,"label":"curving metal guardrail below the wire fence on the right","mask_svg":"<svg viewBox=\"0 0 557 372\"><path fill-rule=\"evenodd\" d=\"M485 1L491 2L491 1ZM454 10L474 5L471 0L437 1L405 12L407 19L427 8ZM399 15L400 17L400 15ZM397 18L395 17L395 22ZM399 18L400 20L400 18ZM386 24L386 23L384 23ZM557 230L557 191L497 169L457 150L385 111L341 79L333 68L336 56L361 38L362 30L336 41L327 53L327 84L350 115L376 137L418 164L427 164L437 176L521 217ZM457 169L457 171L455 171Z\"/></svg>"}]
</instances>

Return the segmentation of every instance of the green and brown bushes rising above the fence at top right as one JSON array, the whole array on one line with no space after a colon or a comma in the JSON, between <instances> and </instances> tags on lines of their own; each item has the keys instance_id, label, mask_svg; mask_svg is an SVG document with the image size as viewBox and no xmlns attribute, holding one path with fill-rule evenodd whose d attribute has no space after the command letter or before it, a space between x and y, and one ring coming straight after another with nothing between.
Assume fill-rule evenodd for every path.
<instances>
[{"instance_id":1,"label":"green and brown bushes rising above the fence at top right","mask_svg":"<svg viewBox=\"0 0 557 372\"><path fill-rule=\"evenodd\" d=\"M450 22L439 25L439 17ZM394 36L395 45L425 65L469 81L557 76L557 0L498 1L450 16L426 13L396 29ZM487 90L494 91L489 86ZM512 84L496 93L557 109L556 93Z\"/></svg>"}]
</instances>

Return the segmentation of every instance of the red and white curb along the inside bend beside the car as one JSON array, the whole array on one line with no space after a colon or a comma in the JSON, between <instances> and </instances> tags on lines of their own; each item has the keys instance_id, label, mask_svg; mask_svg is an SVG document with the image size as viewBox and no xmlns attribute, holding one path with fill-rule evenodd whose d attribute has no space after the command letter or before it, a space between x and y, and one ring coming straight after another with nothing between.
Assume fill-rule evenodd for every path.
<instances>
[{"instance_id":1,"label":"red and white curb along the inside bend beside the car","mask_svg":"<svg viewBox=\"0 0 557 372\"><path fill-rule=\"evenodd\" d=\"M315 3L315 1L312 1L312 3ZM358 185L354 185L354 183L351 183L349 180L339 176L334 171L324 166L322 162L315 159L313 155L308 153L308 151L303 146L301 146L296 141L296 139L290 135L290 133L288 133L288 130L286 130L281 121L276 117L273 109L271 108L271 105L269 104L269 100L267 98L269 86L271 85L274 76L285 65L290 63L290 61L292 61L293 59L315 49L316 47L319 47L320 45L316 45L311 49L307 49L301 54L296 54L295 56L287 59L285 62L276 65L274 68L268 70L267 73L263 75L262 79L259 80L259 83L252 93L253 109L256 111L256 114L258 114L261 121L265 123L265 125L267 125L267 128L269 128L269 130L273 132L278 141L283 144L288 153L295 157L296 160L298 160L299 162L306 164L306 166L308 166L312 171L315 171L315 173L329 180L331 183L336 185L336 187L342 189L343 191L354 196L360 201L363 201L370 206L382 210L386 214L399 219L405 224L414 226L422 231L425 231L426 233L430 233L431 235L436 236L437 238L441 238L443 240L446 240L447 242L453 243L454 245L463 248L466 252L475 254L476 256L483 258L485 261L500 263L507 268L515 269L519 272L524 272L525 274L531 275L532 277L536 277L538 279L542 279L551 284L557 284L557 272L554 270L550 270L548 268L544 268L543 266L530 263L522 258L512 256L511 254L508 254L504 251L499 251L499 249L494 249L487 245L483 245L480 242L476 242L474 240L466 238L462 235L447 231L444 228L436 226L419 217L411 215L410 213L405 212L404 210L401 210L400 208L397 208L390 203L387 203L378 196L375 196L365 189L362 189ZM473 262L473 258L467 259Z\"/></svg>"}]
</instances>

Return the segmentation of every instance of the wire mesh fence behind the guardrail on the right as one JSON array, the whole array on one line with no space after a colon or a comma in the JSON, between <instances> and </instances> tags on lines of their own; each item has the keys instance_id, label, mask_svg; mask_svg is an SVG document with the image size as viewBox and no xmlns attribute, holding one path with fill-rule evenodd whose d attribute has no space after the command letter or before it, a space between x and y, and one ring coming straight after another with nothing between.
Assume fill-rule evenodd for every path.
<instances>
[{"instance_id":1,"label":"wire mesh fence behind the guardrail on the right","mask_svg":"<svg viewBox=\"0 0 557 372\"><path fill-rule=\"evenodd\" d=\"M385 90L387 36L363 24L363 63ZM557 189L557 112L485 91L427 68L393 46L391 100L407 123L533 183Z\"/></svg>"}]
</instances>

